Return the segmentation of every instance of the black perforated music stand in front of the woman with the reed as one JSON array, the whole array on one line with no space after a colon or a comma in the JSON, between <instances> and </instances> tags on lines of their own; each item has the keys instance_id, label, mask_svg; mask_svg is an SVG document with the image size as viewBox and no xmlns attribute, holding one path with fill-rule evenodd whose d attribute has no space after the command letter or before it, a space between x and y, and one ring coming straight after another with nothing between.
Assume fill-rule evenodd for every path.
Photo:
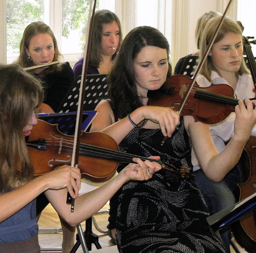
<instances>
[{"instance_id":1,"label":"black perforated music stand in front of the woman with the reed","mask_svg":"<svg viewBox=\"0 0 256 253\"><path fill-rule=\"evenodd\" d=\"M77 112L81 76L78 76L67 95L60 104L57 112ZM108 95L107 75L95 74L86 76L84 96L84 111L93 111L97 104Z\"/></svg>"}]
</instances>

